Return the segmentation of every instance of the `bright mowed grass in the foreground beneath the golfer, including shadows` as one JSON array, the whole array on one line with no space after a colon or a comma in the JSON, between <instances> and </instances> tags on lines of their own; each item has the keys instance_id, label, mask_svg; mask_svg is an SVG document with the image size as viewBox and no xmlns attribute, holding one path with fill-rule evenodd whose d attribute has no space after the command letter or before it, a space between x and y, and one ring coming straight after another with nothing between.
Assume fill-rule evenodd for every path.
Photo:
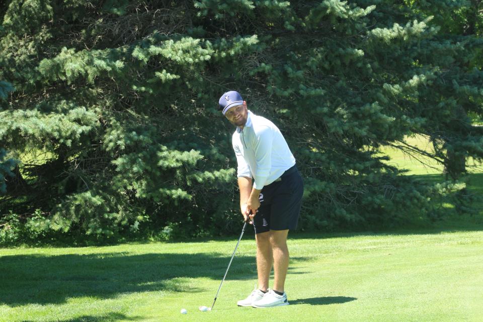
<instances>
[{"instance_id":1,"label":"bright mowed grass in the foreground beneath the golfer, including shadows","mask_svg":"<svg viewBox=\"0 0 483 322\"><path fill-rule=\"evenodd\" d=\"M1 321L482 321L483 231L294 235L291 305L237 307L256 281L248 233L198 243L0 250ZM180 314L186 308L188 314Z\"/></svg>"}]
</instances>

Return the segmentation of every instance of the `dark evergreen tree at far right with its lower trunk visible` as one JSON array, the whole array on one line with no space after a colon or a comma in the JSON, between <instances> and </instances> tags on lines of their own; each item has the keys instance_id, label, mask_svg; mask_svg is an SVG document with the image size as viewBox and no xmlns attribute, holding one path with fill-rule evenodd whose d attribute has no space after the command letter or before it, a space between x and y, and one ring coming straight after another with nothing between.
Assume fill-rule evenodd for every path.
<instances>
[{"instance_id":1,"label":"dark evergreen tree at far right with its lower trunk visible","mask_svg":"<svg viewBox=\"0 0 483 322\"><path fill-rule=\"evenodd\" d=\"M466 173L465 160L483 157L483 129L472 125L470 115L483 115L483 8L481 1L407 1L418 19L432 17L435 37L415 48L418 64L429 81L415 97L425 124L415 133L431 139L434 157L453 180ZM479 13L479 14L478 14Z\"/></svg>"}]
</instances>

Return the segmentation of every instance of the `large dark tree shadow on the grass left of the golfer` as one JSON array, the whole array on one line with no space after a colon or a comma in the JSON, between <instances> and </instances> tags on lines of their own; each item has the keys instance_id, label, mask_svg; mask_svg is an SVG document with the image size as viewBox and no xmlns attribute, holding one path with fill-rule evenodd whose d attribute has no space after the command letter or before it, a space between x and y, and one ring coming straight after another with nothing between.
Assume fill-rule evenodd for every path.
<instances>
[{"instance_id":1,"label":"large dark tree shadow on the grass left of the golfer","mask_svg":"<svg viewBox=\"0 0 483 322\"><path fill-rule=\"evenodd\" d=\"M221 281L230 258L217 253L0 256L0 304L64 303L70 297L105 299L145 291L201 292L190 278ZM235 255L226 279L254 279L256 272L255 257Z\"/></svg>"}]
</instances>

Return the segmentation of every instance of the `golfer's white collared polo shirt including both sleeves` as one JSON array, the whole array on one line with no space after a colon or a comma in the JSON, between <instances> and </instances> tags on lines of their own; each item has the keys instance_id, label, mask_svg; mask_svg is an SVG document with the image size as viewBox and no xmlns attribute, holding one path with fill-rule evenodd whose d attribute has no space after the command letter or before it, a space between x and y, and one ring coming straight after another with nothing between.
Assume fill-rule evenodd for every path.
<instances>
[{"instance_id":1,"label":"golfer's white collared polo shirt including both sleeves","mask_svg":"<svg viewBox=\"0 0 483 322\"><path fill-rule=\"evenodd\" d=\"M237 127L231 141L238 163L237 176L254 178L255 189L261 190L295 165L278 127L250 111L243 130Z\"/></svg>"}]
</instances>

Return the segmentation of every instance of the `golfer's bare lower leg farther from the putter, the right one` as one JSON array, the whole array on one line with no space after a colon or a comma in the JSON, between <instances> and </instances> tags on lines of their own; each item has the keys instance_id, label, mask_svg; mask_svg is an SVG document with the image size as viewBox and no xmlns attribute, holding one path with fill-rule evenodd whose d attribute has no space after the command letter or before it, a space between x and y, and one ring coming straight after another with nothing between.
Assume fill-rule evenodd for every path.
<instances>
[{"instance_id":1,"label":"golfer's bare lower leg farther from the putter, the right one","mask_svg":"<svg viewBox=\"0 0 483 322\"><path fill-rule=\"evenodd\" d=\"M283 293L285 286L285 277L287 276L289 254L287 247L286 230L270 230L270 246L273 253L273 273L274 283L273 290Z\"/></svg>"}]
</instances>

